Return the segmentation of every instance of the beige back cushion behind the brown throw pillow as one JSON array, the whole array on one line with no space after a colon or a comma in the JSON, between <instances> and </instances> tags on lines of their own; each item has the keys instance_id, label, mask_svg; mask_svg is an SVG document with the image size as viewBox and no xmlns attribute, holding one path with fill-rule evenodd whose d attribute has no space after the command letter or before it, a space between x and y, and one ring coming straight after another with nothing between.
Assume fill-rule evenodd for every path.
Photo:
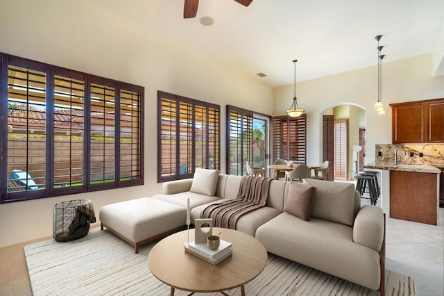
<instances>
[{"instance_id":1,"label":"beige back cushion behind the brown throw pillow","mask_svg":"<svg viewBox=\"0 0 444 296\"><path fill-rule=\"evenodd\" d=\"M316 187L311 217L352 226L355 220L355 186L352 183L304 179Z\"/></svg>"}]
</instances>

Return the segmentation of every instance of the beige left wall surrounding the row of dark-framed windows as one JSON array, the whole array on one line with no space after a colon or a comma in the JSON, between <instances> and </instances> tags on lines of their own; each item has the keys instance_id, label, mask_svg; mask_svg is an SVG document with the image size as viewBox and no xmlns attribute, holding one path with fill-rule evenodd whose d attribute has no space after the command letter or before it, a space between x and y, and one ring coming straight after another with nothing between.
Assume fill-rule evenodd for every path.
<instances>
[{"instance_id":1,"label":"beige left wall surrounding the row of dark-framed windows","mask_svg":"<svg viewBox=\"0 0 444 296\"><path fill-rule=\"evenodd\" d=\"M51 236L52 207L92 199L105 204L160 193L157 184L157 90L221 105L225 172L225 105L271 114L273 92L214 60L122 19L90 1L0 2L0 51L145 88L145 185L0 204L0 247Z\"/></svg>"}]
</instances>

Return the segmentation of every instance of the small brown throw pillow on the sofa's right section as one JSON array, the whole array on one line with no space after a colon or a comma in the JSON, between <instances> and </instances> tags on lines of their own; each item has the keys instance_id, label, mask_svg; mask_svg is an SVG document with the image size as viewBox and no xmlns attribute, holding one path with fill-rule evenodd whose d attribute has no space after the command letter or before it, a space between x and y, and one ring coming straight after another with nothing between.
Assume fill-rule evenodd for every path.
<instances>
[{"instance_id":1,"label":"small brown throw pillow on the sofa's right section","mask_svg":"<svg viewBox=\"0 0 444 296\"><path fill-rule=\"evenodd\" d=\"M291 181L284 211L302 220L309 221L314 204L316 187Z\"/></svg>"}]
</instances>

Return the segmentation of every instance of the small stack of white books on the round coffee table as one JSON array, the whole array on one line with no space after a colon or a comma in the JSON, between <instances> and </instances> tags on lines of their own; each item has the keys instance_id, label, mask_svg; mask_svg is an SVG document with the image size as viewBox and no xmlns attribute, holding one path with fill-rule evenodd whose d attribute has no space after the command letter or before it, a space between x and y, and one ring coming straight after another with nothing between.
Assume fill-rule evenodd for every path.
<instances>
[{"instance_id":1,"label":"small stack of white books on the round coffee table","mask_svg":"<svg viewBox=\"0 0 444 296\"><path fill-rule=\"evenodd\" d=\"M186 252L212 263L212 265L216 265L232 254L231 242L225 240L221 240L217 249L210 249L206 243L196 244L195 242L189 242L188 245L185 242L184 247Z\"/></svg>"}]
</instances>

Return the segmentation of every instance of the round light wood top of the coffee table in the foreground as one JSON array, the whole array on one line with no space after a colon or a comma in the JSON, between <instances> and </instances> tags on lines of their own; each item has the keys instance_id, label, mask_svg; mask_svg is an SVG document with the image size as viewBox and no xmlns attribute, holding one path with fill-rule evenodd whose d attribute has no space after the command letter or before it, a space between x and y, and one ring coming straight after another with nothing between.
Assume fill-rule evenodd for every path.
<instances>
[{"instance_id":1,"label":"round light wood top of the coffee table in the foreground","mask_svg":"<svg viewBox=\"0 0 444 296\"><path fill-rule=\"evenodd\" d=\"M213 227L213 233L232 244L232 255L219 264L212 265L185 252L185 230L157 242L148 254L148 267L172 288L198 293L242 286L264 270L268 256L259 240L233 229ZM189 230L189 238L194 241L194 229Z\"/></svg>"}]
</instances>

